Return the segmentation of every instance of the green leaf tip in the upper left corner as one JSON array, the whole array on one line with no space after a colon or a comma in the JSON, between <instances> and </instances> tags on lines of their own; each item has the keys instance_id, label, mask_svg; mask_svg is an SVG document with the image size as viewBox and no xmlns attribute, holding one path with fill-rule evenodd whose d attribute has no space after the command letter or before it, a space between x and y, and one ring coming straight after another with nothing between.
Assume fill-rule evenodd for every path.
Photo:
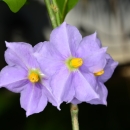
<instances>
[{"instance_id":1,"label":"green leaf tip in the upper left corner","mask_svg":"<svg viewBox=\"0 0 130 130\"><path fill-rule=\"evenodd\" d=\"M26 3L26 0L3 0L14 13L18 12Z\"/></svg>"}]
</instances>

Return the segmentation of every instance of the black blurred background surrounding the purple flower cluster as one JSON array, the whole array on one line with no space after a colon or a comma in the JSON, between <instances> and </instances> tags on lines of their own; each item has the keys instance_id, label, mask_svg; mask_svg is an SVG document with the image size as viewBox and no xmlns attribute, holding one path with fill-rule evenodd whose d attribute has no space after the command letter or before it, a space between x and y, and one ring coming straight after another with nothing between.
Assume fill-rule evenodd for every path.
<instances>
[{"instance_id":1,"label":"black blurred background surrounding the purple flower cluster","mask_svg":"<svg viewBox=\"0 0 130 130\"><path fill-rule=\"evenodd\" d=\"M99 1L101 3L101 0ZM123 5L127 0L124 1ZM115 15L117 3L111 3L111 0L105 2L107 6L104 9ZM127 2L130 5L130 2ZM98 6L100 7L100 4ZM83 35L92 32L82 26L79 28ZM4 2L0 1L0 68L6 65L4 41L24 41L35 45L47 40L46 29L51 29L51 26L43 4L29 0L18 13L14 14ZM87 103L79 105L80 130L130 129L129 70L129 62L120 64L106 83L109 92L107 106ZM0 89L0 130L71 130L70 104L63 103L61 111L48 104L43 112L26 118L25 111L20 107L19 98L19 94L4 88Z\"/></svg>"}]
</instances>

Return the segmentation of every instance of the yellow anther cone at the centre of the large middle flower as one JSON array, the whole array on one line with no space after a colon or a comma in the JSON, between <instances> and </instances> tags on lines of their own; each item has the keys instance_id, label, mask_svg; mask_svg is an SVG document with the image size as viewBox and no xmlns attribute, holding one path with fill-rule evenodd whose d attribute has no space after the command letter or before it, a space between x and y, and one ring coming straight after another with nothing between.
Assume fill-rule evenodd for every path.
<instances>
[{"instance_id":1,"label":"yellow anther cone at the centre of the large middle flower","mask_svg":"<svg viewBox=\"0 0 130 130\"><path fill-rule=\"evenodd\" d=\"M79 68L80 66L82 66L83 64L83 60L81 58L72 58L70 61L70 66L72 66L73 68Z\"/></svg>"}]
</instances>

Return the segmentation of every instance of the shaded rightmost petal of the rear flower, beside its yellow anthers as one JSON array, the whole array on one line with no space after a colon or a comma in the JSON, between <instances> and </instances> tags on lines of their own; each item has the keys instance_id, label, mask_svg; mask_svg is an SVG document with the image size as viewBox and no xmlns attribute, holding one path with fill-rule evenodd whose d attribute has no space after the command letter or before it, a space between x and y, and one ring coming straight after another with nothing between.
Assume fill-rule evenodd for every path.
<instances>
[{"instance_id":1,"label":"shaded rightmost petal of the rear flower, beside its yellow anthers","mask_svg":"<svg viewBox=\"0 0 130 130\"><path fill-rule=\"evenodd\" d=\"M118 62L115 62L108 54L107 54L107 63L104 68L104 74L99 76L98 79L101 82L106 82L113 74L115 68L117 67Z\"/></svg>"}]
</instances>

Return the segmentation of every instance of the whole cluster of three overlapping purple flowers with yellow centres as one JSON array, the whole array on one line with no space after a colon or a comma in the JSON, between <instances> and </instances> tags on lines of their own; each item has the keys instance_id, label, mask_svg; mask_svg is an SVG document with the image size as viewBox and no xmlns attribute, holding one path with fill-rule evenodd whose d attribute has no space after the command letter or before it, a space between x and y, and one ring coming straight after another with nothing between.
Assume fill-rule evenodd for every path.
<instances>
[{"instance_id":1,"label":"whole cluster of three overlapping purple flowers with yellow centres","mask_svg":"<svg viewBox=\"0 0 130 130\"><path fill-rule=\"evenodd\" d=\"M6 46L8 65L0 72L0 87L21 94L27 116L41 112L47 102L58 109L62 102L107 104L104 82L118 63L96 33L82 38L76 27L64 22L52 31L50 41Z\"/></svg>"}]
</instances>

